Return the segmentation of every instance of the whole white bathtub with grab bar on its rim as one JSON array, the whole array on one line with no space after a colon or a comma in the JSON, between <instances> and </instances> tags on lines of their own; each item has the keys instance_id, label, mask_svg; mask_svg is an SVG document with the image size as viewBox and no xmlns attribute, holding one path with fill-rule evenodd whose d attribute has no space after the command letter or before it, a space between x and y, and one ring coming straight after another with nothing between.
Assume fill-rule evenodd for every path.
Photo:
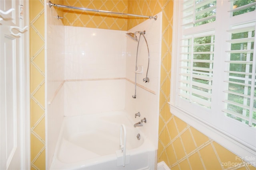
<instances>
[{"instance_id":1,"label":"whole white bathtub with grab bar on its rim","mask_svg":"<svg viewBox=\"0 0 256 170\"><path fill-rule=\"evenodd\" d=\"M140 131L146 126L134 127L138 121L124 111L64 117L50 169L154 170L156 148ZM127 131L124 167L118 151L122 124Z\"/></svg>"}]
</instances>

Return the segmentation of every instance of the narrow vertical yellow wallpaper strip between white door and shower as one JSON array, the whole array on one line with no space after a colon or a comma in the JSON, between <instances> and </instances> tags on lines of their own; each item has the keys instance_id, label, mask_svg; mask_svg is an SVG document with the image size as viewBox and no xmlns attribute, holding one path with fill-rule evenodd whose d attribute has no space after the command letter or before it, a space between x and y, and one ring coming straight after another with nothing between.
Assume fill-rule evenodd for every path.
<instances>
[{"instance_id":1,"label":"narrow vertical yellow wallpaper strip between white door and shower","mask_svg":"<svg viewBox=\"0 0 256 170\"><path fill-rule=\"evenodd\" d=\"M45 169L44 1L30 0L31 170Z\"/></svg>"}]
</instances>

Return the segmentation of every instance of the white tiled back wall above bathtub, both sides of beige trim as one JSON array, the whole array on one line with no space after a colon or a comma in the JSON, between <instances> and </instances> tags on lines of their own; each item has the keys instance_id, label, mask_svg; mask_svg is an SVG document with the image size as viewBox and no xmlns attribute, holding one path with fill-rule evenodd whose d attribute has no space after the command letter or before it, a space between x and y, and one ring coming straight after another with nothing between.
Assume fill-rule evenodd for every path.
<instances>
[{"instance_id":1,"label":"white tiled back wall above bathtub, both sides of beige trim","mask_svg":"<svg viewBox=\"0 0 256 170\"><path fill-rule=\"evenodd\" d=\"M65 26L65 32L65 115L123 110L126 31Z\"/></svg>"}]
</instances>

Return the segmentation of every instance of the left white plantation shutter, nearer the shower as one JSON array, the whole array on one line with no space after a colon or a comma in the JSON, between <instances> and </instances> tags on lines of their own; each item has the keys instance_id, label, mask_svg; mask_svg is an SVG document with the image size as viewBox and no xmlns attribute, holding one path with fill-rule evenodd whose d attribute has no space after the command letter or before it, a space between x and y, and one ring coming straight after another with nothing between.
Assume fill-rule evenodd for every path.
<instances>
[{"instance_id":1,"label":"left white plantation shutter, nearer the shower","mask_svg":"<svg viewBox=\"0 0 256 170\"><path fill-rule=\"evenodd\" d=\"M214 59L214 29L193 29L214 22L216 0L187 0L182 11L183 39L180 47L178 95L190 103L210 108Z\"/></svg>"}]
</instances>

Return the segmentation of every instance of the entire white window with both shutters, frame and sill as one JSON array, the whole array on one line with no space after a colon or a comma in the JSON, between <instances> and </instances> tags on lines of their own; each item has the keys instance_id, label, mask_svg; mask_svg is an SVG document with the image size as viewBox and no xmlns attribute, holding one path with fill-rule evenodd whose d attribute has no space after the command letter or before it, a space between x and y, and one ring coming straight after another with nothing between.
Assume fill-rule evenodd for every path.
<instances>
[{"instance_id":1,"label":"entire white window with both shutters, frame and sill","mask_svg":"<svg viewBox=\"0 0 256 170\"><path fill-rule=\"evenodd\" d=\"M254 158L255 0L174 4L171 113L240 157Z\"/></svg>"}]
</instances>

